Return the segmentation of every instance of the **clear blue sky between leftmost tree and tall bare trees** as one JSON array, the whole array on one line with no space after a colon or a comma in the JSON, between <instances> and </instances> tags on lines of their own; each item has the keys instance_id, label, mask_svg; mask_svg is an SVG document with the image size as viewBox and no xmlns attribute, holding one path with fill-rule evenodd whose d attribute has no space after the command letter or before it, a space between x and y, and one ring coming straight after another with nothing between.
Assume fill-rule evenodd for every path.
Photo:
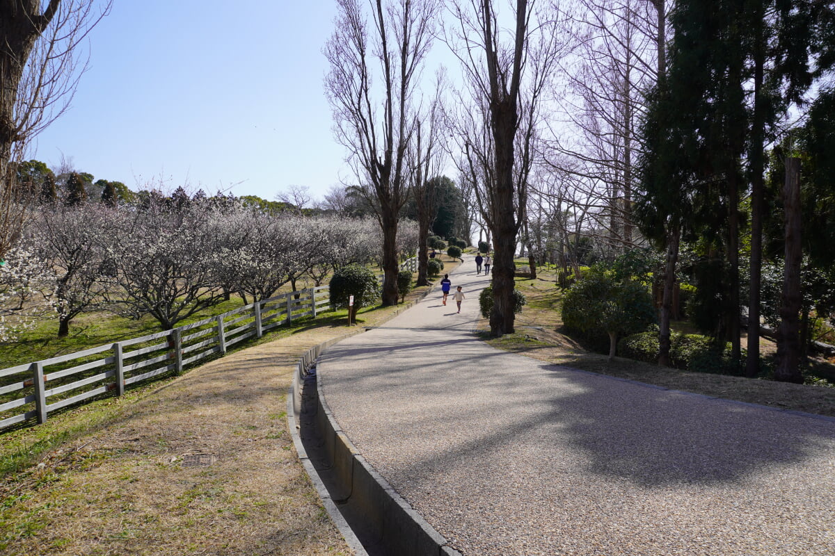
<instances>
[{"instance_id":1,"label":"clear blue sky between leftmost tree and tall bare trees","mask_svg":"<svg viewBox=\"0 0 835 556\"><path fill-rule=\"evenodd\" d=\"M352 180L331 133L321 48L332 0L115 0L89 38L72 108L32 158L131 189L317 198Z\"/></svg>"}]
</instances>

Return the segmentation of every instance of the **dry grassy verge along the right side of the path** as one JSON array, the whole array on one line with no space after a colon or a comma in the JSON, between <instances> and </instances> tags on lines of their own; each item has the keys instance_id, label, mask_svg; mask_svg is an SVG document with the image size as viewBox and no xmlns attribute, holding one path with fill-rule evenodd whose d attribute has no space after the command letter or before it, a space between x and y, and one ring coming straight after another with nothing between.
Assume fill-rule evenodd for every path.
<instances>
[{"instance_id":1,"label":"dry grassy verge along the right side of the path","mask_svg":"<svg viewBox=\"0 0 835 556\"><path fill-rule=\"evenodd\" d=\"M543 275L536 280L517 279L516 284L528 298L529 304L516 316L515 333L489 340L496 348L549 363L630 378L664 388L835 417L835 388L691 373L626 358L615 358L610 362L605 355L584 350L560 332L562 321L558 310L559 290L555 288L553 276ZM489 330L486 319L479 329ZM765 351L773 350L773 343L764 341L763 344Z\"/></svg>"}]
</instances>

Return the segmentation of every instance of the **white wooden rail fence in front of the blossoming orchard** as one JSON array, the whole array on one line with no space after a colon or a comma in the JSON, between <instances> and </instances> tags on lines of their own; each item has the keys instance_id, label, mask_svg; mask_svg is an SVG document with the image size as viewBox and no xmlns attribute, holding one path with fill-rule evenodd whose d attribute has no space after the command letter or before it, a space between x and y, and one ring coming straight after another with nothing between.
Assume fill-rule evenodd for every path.
<instances>
[{"instance_id":1,"label":"white wooden rail fence in front of the blossoming orchard","mask_svg":"<svg viewBox=\"0 0 835 556\"><path fill-rule=\"evenodd\" d=\"M327 286L265 299L173 330L0 370L0 430L167 373L329 308ZM297 298L296 298L297 297ZM15 396L18 396L17 398Z\"/></svg>"}]
</instances>

